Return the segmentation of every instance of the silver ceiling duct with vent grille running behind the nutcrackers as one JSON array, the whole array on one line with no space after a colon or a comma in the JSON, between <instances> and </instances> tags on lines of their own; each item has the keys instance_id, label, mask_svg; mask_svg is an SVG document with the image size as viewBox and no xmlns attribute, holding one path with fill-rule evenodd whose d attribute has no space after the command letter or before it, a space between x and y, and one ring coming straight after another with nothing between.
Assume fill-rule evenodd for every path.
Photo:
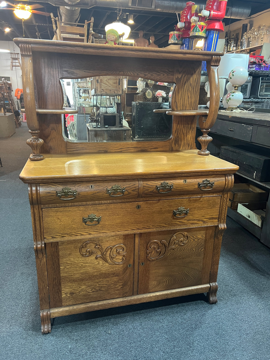
<instances>
[{"instance_id":1,"label":"silver ceiling duct with vent grille running behind the nutcrackers","mask_svg":"<svg viewBox=\"0 0 270 360\"><path fill-rule=\"evenodd\" d=\"M116 0L37 0L40 2L50 3L54 6L64 6L66 9L78 9L85 8L90 9L94 6L101 6L107 8L117 8ZM206 1L194 1L197 5L200 5L200 9L203 9ZM76 7L66 6L77 5ZM177 0L118 0L123 9L132 10L148 10L148 11L161 11L166 13L180 13L186 5L186 1ZM72 10L74 11L74 10ZM251 12L251 6L244 4L242 1L233 1L232 6L227 6L226 18L232 19L246 19Z\"/></svg>"}]
</instances>

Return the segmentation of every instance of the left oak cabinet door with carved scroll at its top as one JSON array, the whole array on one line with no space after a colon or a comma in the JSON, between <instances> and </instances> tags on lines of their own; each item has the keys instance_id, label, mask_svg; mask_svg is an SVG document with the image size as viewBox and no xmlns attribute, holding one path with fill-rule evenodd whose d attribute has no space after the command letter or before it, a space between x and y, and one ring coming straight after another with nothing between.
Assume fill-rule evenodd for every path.
<instances>
[{"instance_id":1,"label":"left oak cabinet door with carved scroll at its top","mask_svg":"<svg viewBox=\"0 0 270 360\"><path fill-rule=\"evenodd\" d=\"M132 295L134 234L45 246L51 308Z\"/></svg>"}]
</instances>

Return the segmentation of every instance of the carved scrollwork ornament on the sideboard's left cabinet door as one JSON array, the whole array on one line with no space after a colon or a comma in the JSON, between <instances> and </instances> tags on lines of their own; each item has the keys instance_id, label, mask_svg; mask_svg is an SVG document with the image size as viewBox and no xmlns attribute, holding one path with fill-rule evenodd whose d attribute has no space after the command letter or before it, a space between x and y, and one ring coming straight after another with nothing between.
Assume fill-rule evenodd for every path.
<instances>
[{"instance_id":1,"label":"carved scrollwork ornament on the sideboard's left cabinet door","mask_svg":"<svg viewBox=\"0 0 270 360\"><path fill-rule=\"evenodd\" d=\"M96 259L102 258L109 265L122 265L126 261L126 247L123 244L108 246L103 250L98 242L89 240L80 246L80 254L89 257L97 253L95 249L100 252L96 255Z\"/></svg>"}]
</instances>

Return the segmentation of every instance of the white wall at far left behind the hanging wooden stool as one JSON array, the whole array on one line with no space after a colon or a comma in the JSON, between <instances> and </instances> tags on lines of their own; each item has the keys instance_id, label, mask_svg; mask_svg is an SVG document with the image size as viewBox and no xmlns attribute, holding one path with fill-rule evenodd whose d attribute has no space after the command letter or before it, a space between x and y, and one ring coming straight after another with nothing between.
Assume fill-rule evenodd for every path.
<instances>
[{"instance_id":1,"label":"white wall at far left behind the hanging wooden stool","mask_svg":"<svg viewBox=\"0 0 270 360\"><path fill-rule=\"evenodd\" d=\"M0 49L9 49L12 53L20 53L20 49L13 41L0 41ZM10 76L14 95L17 88L22 89L22 71L19 67L13 67L13 70L10 70L10 62L10 53L0 52L0 76ZM17 99L14 98L14 101L17 106Z\"/></svg>"}]
</instances>

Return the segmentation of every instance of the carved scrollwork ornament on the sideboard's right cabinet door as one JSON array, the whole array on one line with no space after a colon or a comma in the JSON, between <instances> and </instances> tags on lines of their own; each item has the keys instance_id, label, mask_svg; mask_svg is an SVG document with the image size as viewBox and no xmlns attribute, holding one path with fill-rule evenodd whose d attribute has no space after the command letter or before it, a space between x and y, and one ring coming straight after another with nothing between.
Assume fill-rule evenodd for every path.
<instances>
[{"instance_id":1,"label":"carved scrollwork ornament on the sideboard's right cabinet door","mask_svg":"<svg viewBox=\"0 0 270 360\"><path fill-rule=\"evenodd\" d=\"M147 259L150 261L161 259L168 251L174 250L177 246L185 245L188 239L188 233L178 232L171 237L169 242L152 240L147 245Z\"/></svg>"}]
</instances>

